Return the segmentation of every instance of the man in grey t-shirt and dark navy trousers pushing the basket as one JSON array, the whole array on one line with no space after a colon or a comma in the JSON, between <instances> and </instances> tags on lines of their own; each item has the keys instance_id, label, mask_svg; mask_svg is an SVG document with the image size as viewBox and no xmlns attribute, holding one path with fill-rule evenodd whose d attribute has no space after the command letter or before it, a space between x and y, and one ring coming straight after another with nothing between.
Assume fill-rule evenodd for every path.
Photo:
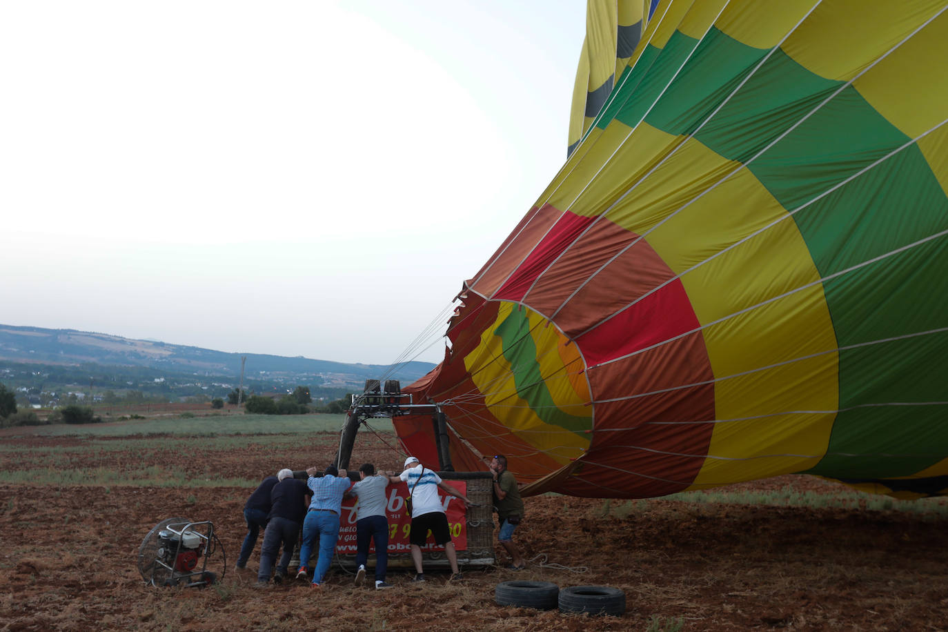
<instances>
[{"instance_id":1,"label":"man in grey t-shirt and dark navy trousers pushing the basket","mask_svg":"<svg viewBox=\"0 0 948 632\"><path fill-rule=\"evenodd\" d=\"M375 466L365 463L358 468L359 481L345 497L358 497L356 503L356 586L365 582L365 563L369 561L369 543L375 542L375 589L391 588L385 573L389 568L389 519L385 515L389 486L388 472L375 474Z\"/></svg>"}]
</instances>

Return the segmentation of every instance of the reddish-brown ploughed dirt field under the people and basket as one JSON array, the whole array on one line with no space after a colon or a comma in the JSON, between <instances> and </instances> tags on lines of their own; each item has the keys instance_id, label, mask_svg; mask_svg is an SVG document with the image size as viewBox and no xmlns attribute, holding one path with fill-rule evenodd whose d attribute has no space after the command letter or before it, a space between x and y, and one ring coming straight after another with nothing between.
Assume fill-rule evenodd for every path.
<instances>
[{"instance_id":1,"label":"reddish-brown ploughed dirt field under the people and basket","mask_svg":"<svg viewBox=\"0 0 948 632\"><path fill-rule=\"evenodd\" d=\"M399 469L392 451L369 437L360 435L354 462ZM2 441L8 450L75 449L90 466L171 461L194 477L259 479L284 464L322 464L337 435L307 436L279 456L256 447L117 458L83 451L82 439L20 434ZM6 455L0 471L23 467L15 453ZM807 477L742 487L788 485L830 495L840 489ZM417 587L393 570L396 587L374 591L353 587L352 576L336 569L319 592L304 584L262 591L251 587L252 573L233 571L249 491L0 485L0 629L672 630L676 621L684 630L948 628L948 525L930 516L662 499L631 511L613 503L604 515L603 500L534 497L515 536L534 560L525 571L469 570L461 584L436 572ZM159 520L176 515L213 521L227 553L218 586L143 585L138 546ZM258 554L259 543L248 567L256 569ZM498 557L506 562L499 548ZM210 568L224 569L219 557ZM496 585L510 579L619 587L628 610L593 618L495 605Z\"/></svg>"}]
</instances>

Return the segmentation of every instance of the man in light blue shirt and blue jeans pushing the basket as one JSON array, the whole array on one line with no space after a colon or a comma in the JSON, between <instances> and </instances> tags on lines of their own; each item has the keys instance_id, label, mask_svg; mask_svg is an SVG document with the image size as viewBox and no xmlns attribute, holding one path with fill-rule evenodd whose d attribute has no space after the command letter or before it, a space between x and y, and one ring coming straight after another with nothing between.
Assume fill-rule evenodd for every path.
<instances>
[{"instance_id":1,"label":"man in light blue shirt and blue jeans pushing the basket","mask_svg":"<svg viewBox=\"0 0 948 632\"><path fill-rule=\"evenodd\" d=\"M300 569L297 579L305 578L308 570L309 557L313 552L313 542L319 537L319 556L316 560L316 569L313 571L313 587L322 584L329 565L333 562L336 552L336 542L339 539L339 515L342 512L342 495L346 493L352 481L345 470L338 470L335 465L326 468L322 478L317 478L319 469L310 467L306 470L309 479L306 485L313 492L309 511L302 523L302 544L300 545Z\"/></svg>"}]
</instances>

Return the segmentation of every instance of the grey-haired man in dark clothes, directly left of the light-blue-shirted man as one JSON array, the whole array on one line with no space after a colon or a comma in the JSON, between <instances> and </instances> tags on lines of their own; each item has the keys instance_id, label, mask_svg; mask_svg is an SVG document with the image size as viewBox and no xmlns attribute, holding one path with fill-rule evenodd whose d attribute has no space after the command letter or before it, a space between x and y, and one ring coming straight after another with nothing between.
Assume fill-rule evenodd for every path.
<instances>
[{"instance_id":1,"label":"grey-haired man in dark clothes, directly left of the light-blue-shirted man","mask_svg":"<svg viewBox=\"0 0 948 632\"><path fill-rule=\"evenodd\" d=\"M273 562L277 559L280 545L283 545L283 556L277 565L277 572L273 582L279 584L286 577L286 569L293 556L293 548L300 536L302 519L309 507L309 497L312 492L306 487L305 481L293 478L293 470L283 469L277 474L276 485L270 491L269 522L264 532L264 544L260 551L260 569L257 571L257 587L268 587L270 571Z\"/></svg>"}]
</instances>

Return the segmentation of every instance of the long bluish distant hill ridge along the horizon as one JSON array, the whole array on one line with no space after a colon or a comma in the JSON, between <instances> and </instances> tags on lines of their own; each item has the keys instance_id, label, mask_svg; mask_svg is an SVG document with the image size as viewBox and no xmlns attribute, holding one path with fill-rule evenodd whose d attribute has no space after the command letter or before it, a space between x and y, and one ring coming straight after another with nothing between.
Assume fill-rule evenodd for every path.
<instances>
[{"instance_id":1,"label":"long bluish distant hill ridge along the horizon","mask_svg":"<svg viewBox=\"0 0 948 632\"><path fill-rule=\"evenodd\" d=\"M346 364L302 356L217 352L118 335L0 324L0 359L13 362L145 367L233 379L240 375L241 357L244 355L247 376L296 379L301 383L308 383L303 381L304 378L319 377L320 383L327 386L361 388L366 379L382 377L389 370L385 365ZM409 362L389 377L407 385L433 368L430 362Z\"/></svg>"}]
</instances>

